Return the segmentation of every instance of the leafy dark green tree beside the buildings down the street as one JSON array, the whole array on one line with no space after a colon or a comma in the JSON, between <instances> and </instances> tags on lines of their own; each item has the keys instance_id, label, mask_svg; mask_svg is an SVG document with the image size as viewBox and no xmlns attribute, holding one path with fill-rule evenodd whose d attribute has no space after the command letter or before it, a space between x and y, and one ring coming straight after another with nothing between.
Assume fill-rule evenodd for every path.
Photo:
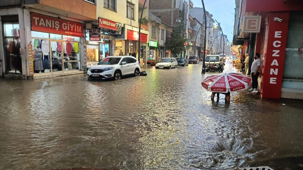
<instances>
[{"instance_id":1,"label":"leafy dark green tree beside the buildings down the street","mask_svg":"<svg viewBox=\"0 0 303 170\"><path fill-rule=\"evenodd\" d=\"M172 54L180 54L182 50L185 50L184 43L188 42L185 31L184 23L178 23L171 33L170 40L165 42L166 49Z\"/></svg>"}]
</instances>

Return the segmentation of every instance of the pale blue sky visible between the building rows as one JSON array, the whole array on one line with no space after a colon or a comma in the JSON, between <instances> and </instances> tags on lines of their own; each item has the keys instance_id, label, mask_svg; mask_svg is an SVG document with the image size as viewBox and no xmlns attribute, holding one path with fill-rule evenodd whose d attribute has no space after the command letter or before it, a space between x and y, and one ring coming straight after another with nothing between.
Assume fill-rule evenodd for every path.
<instances>
[{"instance_id":1,"label":"pale blue sky visible between the building rows","mask_svg":"<svg viewBox=\"0 0 303 170\"><path fill-rule=\"evenodd\" d=\"M203 8L201 0L191 0L194 7ZM221 23L223 34L227 35L231 43L235 20L235 0L204 0L206 11L213 15L213 19ZM216 24L216 23L215 23Z\"/></svg>"}]
</instances>

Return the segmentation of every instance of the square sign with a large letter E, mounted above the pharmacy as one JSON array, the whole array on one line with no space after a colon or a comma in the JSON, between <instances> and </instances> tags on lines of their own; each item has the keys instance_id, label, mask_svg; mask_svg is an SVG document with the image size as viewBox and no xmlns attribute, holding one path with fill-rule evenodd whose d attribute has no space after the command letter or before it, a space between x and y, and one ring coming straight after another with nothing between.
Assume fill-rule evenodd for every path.
<instances>
[{"instance_id":1,"label":"square sign with a large letter E, mounted above the pharmacy","mask_svg":"<svg viewBox=\"0 0 303 170\"><path fill-rule=\"evenodd\" d=\"M244 16L244 25L242 32L258 33L261 27L261 15Z\"/></svg>"}]
</instances>

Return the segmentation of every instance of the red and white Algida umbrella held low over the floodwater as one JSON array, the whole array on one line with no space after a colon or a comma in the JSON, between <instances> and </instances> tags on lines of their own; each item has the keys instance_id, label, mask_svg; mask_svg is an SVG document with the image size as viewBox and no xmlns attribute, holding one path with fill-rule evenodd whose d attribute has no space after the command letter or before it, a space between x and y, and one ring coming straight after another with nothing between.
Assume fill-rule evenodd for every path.
<instances>
[{"instance_id":1,"label":"red and white Algida umbrella held low over the floodwater","mask_svg":"<svg viewBox=\"0 0 303 170\"><path fill-rule=\"evenodd\" d=\"M201 85L211 92L227 93L247 89L251 84L251 78L238 73L215 74L206 77Z\"/></svg>"}]
</instances>

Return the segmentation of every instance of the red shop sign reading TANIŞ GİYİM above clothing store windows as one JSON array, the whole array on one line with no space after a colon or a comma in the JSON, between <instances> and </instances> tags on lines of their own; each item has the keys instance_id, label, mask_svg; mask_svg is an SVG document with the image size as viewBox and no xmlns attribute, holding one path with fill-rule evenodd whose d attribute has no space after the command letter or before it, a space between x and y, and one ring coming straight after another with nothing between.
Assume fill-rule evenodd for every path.
<instances>
[{"instance_id":1,"label":"red shop sign reading TANI\u015e G\u0130Y\u0130M above clothing store windows","mask_svg":"<svg viewBox=\"0 0 303 170\"><path fill-rule=\"evenodd\" d=\"M83 37L83 24L40 14L31 14L32 31Z\"/></svg>"}]
</instances>

